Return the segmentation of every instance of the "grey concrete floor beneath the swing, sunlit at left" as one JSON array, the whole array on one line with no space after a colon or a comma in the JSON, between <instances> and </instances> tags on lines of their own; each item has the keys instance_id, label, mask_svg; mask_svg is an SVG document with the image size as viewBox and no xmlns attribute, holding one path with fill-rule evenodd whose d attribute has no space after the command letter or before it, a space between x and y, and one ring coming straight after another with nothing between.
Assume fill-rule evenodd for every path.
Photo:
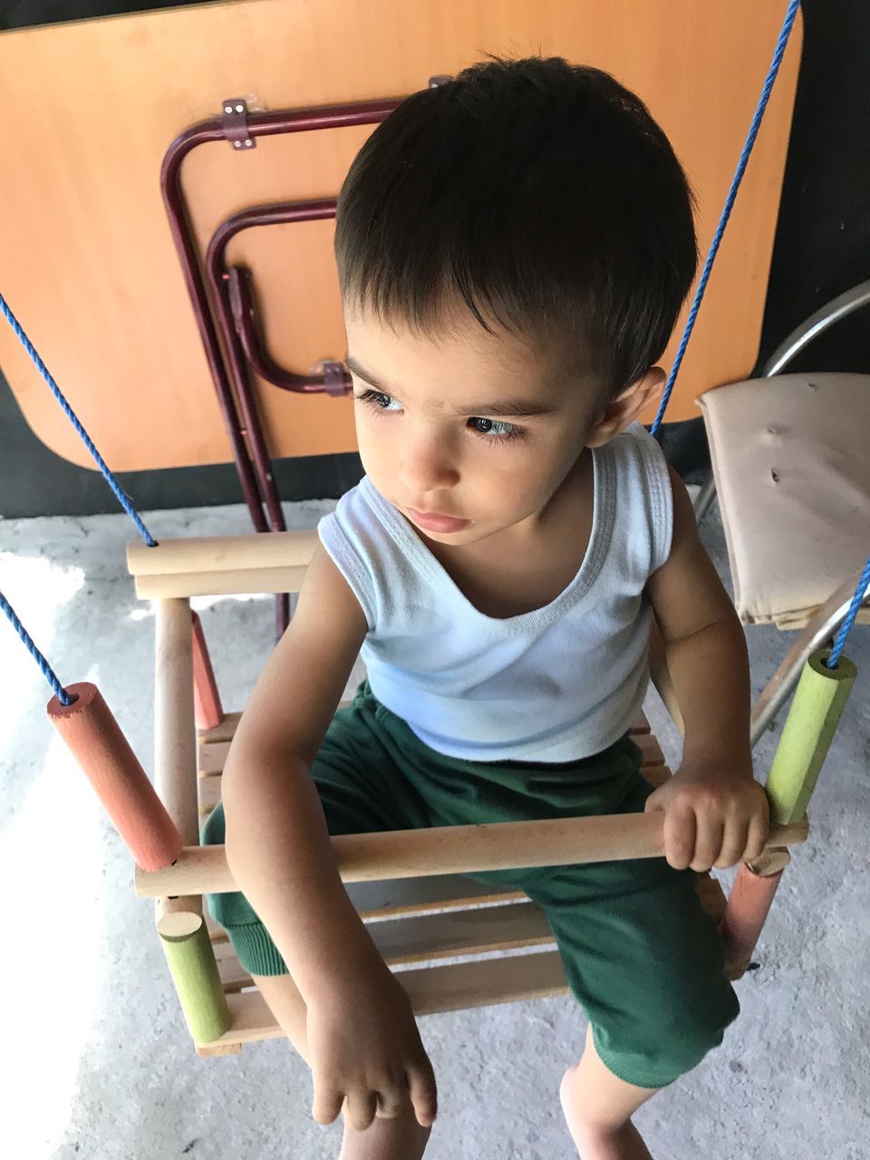
<instances>
[{"instance_id":1,"label":"grey concrete floor beneath the swing, sunlit at left","mask_svg":"<svg viewBox=\"0 0 870 1160\"><path fill-rule=\"evenodd\" d=\"M328 503L293 506L313 525ZM240 507L159 512L158 537L247 531ZM724 567L716 516L705 525ZM3 590L64 682L96 681L151 763L153 623L124 566L124 516L0 522ZM271 645L271 601L196 602L227 708L244 704ZM132 863L44 716L48 687L0 626L0 873L6 1050L3 1154L15 1160L327 1160L340 1129L309 1116L305 1066L285 1042L218 1060L190 1046ZM756 683L786 640L751 629ZM870 1155L870 632L813 802L725 1045L637 1122L657 1160L858 1160ZM650 708L674 753L658 704ZM774 737L757 749L769 762ZM727 877L727 876L726 876ZM440 1079L432 1160L568 1160L558 1107L583 1039L570 999L429 1016Z\"/></svg>"}]
</instances>

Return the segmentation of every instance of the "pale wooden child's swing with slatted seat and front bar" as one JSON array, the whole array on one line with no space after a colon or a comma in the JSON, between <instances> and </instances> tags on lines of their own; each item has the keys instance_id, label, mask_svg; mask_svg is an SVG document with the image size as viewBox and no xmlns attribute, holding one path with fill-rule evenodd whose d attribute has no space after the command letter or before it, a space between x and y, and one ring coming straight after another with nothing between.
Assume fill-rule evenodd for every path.
<instances>
[{"instance_id":1,"label":"pale wooden child's swing with slatted seat and front bar","mask_svg":"<svg viewBox=\"0 0 870 1160\"><path fill-rule=\"evenodd\" d=\"M203 912L203 893L238 889L224 848L200 847L198 833L220 798L222 770L240 715L223 713L202 628L191 616L189 600L226 592L297 590L316 543L313 532L254 534L173 541L158 548L133 544L128 553L138 595L155 602L154 780L184 842L172 865L137 869L136 890L158 899L158 930L196 1050L203 1056L234 1052L244 1043L283 1031L253 988L226 934ZM667 695L666 673L661 676ZM670 771L645 720L637 723L633 739L644 754L644 776L661 784ZM778 882L788 861L785 846L803 841L806 833L803 815L773 826L768 861L755 876L763 894ZM664 851L657 814L360 834L334 838L332 844L350 898L371 923L387 964L426 964L400 974L418 1015L567 989L559 954L538 907L521 892L493 891L463 873L653 857ZM703 875L698 893L722 922L726 901L719 883ZM753 898L751 909L756 906ZM749 919L760 929L763 915L760 921L757 914ZM746 915L734 913L732 925L735 920L745 923ZM744 937L733 943L732 977L742 973L754 942L752 937L746 945ZM523 954L481 957L519 948ZM437 964L447 957L467 960Z\"/></svg>"}]
</instances>

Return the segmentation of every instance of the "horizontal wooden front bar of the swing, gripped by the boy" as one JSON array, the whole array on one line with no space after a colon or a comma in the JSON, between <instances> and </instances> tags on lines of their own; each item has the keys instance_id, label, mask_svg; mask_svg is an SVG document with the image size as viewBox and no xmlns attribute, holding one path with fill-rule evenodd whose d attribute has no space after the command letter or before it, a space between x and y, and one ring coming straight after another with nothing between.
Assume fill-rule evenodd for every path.
<instances>
[{"instance_id":1,"label":"horizontal wooden front bar of the swing, gripped by the boy","mask_svg":"<svg viewBox=\"0 0 870 1160\"><path fill-rule=\"evenodd\" d=\"M807 831L806 819L771 826L768 844L803 842ZM345 834L331 842L345 882L618 862L661 857L665 851L660 813ZM238 889L223 846L186 847L174 867L157 873L136 872L136 893L144 898Z\"/></svg>"}]
</instances>

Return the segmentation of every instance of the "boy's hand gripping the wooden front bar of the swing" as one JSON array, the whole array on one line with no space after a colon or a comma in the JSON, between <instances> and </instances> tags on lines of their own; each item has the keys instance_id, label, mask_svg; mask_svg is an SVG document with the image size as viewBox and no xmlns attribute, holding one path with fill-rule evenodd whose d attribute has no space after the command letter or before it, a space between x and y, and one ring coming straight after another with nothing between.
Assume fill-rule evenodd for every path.
<instances>
[{"instance_id":1,"label":"boy's hand gripping the wooden front bar of the swing","mask_svg":"<svg viewBox=\"0 0 870 1160\"><path fill-rule=\"evenodd\" d=\"M754 862L764 849L768 800L751 769L683 762L646 800L665 814L665 857L675 870L725 869Z\"/></svg>"}]
</instances>

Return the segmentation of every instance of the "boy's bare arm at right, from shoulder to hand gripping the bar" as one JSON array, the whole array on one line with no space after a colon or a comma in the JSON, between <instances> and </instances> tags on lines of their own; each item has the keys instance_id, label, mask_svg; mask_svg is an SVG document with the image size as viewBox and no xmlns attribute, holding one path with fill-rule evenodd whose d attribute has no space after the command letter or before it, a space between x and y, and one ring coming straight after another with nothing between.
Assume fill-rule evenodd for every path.
<instances>
[{"instance_id":1,"label":"boy's bare arm at right, from shoulder to hand gripping the bar","mask_svg":"<svg viewBox=\"0 0 870 1160\"><path fill-rule=\"evenodd\" d=\"M691 502L672 470L670 557L647 582L684 722L677 774L647 800L665 812L670 865L709 870L761 855L768 805L753 778L749 666L737 612L698 537Z\"/></svg>"}]
</instances>

